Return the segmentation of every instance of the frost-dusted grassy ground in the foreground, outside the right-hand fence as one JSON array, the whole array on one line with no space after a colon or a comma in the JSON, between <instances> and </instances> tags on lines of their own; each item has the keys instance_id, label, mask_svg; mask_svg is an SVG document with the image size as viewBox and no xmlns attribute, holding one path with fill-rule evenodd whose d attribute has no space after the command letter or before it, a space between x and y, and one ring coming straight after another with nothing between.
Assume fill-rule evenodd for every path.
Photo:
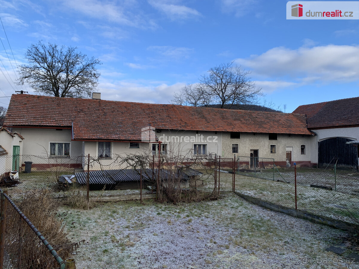
<instances>
[{"instance_id":1,"label":"frost-dusted grassy ground in the foreground, outside the right-hand fence","mask_svg":"<svg viewBox=\"0 0 359 269\"><path fill-rule=\"evenodd\" d=\"M152 200L61 208L77 268L359 268L327 252L344 232L248 203L235 194L191 204Z\"/></svg>"}]
</instances>

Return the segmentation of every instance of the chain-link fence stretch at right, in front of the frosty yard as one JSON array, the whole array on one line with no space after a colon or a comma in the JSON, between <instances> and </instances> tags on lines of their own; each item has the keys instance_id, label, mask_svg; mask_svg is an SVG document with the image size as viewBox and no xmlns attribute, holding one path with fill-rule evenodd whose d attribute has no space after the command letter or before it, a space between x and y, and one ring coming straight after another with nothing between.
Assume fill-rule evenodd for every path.
<instances>
[{"instance_id":1,"label":"chain-link fence stretch at right, in front of the frosty yard","mask_svg":"<svg viewBox=\"0 0 359 269\"><path fill-rule=\"evenodd\" d=\"M290 208L295 208L297 198L297 209L359 224L357 167L334 164L278 168L274 161L260 165L263 158L258 158L257 165L251 167L248 159L243 161L243 157L238 157L237 192Z\"/></svg>"}]
</instances>

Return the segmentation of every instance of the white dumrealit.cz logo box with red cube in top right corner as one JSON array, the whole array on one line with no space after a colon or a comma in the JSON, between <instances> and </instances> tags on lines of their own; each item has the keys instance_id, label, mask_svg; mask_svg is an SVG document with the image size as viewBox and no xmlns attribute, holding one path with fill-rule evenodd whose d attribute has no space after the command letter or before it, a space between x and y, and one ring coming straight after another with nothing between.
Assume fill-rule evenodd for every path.
<instances>
[{"instance_id":1,"label":"white dumrealit.cz logo box with red cube in top right corner","mask_svg":"<svg viewBox=\"0 0 359 269\"><path fill-rule=\"evenodd\" d=\"M289 1L286 7L288 19L359 19L359 1Z\"/></svg>"}]
</instances>

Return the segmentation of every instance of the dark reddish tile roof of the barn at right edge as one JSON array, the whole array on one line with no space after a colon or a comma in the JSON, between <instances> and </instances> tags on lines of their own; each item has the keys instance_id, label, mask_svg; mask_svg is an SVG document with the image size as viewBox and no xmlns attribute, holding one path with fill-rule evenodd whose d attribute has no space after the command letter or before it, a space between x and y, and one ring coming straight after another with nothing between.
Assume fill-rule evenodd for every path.
<instances>
[{"instance_id":1,"label":"dark reddish tile roof of the barn at right edge","mask_svg":"<svg viewBox=\"0 0 359 269\"><path fill-rule=\"evenodd\" d=\"M293 113L306 114L309 129L359 126L359 97L300 105Z\"/></svg>"}]
</instances>

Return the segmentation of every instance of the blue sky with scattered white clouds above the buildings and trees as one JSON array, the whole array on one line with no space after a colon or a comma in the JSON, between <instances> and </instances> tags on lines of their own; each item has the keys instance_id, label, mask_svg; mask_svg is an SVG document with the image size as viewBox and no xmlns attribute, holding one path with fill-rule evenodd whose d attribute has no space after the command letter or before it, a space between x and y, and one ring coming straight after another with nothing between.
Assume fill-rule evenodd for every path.
<instances>
[{"instance_id":1,"label":"blue sky with scattered white clouds above the buildings and trees","mask_svg":"<svg viewBox=\"0 0 359 269\"><path fill-rule=\"evenodd\" d=\"M358 20L286 20L286 3L0 0L8 37L0 26L0 105L15 90L33 94L16 85L17 65L40 40L101 60L98 91L106 100L171 103L184 85L232 61L251 72L262 103L286 105L285 112L359 96Z\"/></svg>"}]
</instances>

